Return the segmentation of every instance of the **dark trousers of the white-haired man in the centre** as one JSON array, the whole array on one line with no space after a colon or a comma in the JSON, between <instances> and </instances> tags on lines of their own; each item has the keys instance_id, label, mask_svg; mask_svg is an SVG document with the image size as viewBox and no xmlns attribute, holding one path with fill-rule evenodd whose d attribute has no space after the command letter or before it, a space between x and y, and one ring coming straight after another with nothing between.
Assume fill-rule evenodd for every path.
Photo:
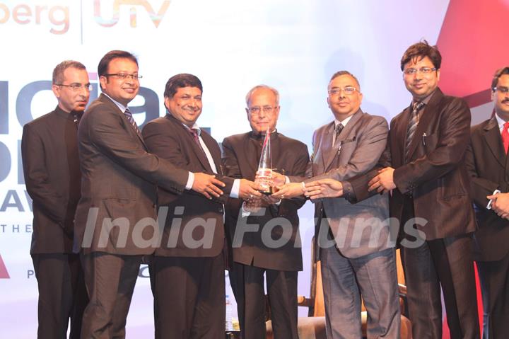
<instances>
[{"instance_id":1,"label":"dark trousers of the white-haired man in the centre","mask_svg":"<svg viewBox=\"0 0 509 339\"><path fill-rule=\"evenodd\" d=\"M237 301L240 330L243 339L266 337L264 273L271 309L275 339L296 339L297 276L296 271L280 271L233 263L230 282Z\"/></svg>"}]
</instances>

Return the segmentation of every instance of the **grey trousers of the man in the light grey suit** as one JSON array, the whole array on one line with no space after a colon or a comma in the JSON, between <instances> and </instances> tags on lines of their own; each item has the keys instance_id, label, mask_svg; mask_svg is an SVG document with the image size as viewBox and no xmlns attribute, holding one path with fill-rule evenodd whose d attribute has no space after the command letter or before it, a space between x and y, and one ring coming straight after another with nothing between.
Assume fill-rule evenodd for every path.
<instances>
[{"instance_id":1,"label":"grey trousers of the man in the light grey suit","mask_svg":"<svg viewBox=\"0 0 509 339\"><path fill-rule=\"evenodd\" d=\"M346 258L335 246L320 249L327 338L361 339L361 296L367 335L399 338L400 312L394 248Z\"/></svg>"}]
</instances>

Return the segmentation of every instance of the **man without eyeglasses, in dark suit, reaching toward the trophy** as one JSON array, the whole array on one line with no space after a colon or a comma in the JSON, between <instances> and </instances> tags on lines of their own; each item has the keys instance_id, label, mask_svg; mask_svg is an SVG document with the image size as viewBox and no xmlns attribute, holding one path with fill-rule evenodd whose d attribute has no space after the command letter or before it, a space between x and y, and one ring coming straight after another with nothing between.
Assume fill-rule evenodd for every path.
<instances>
[{"instance_id":1,"label":"man without eyeglasses, in dark suit, reaching toward the trophy","mask_svg":"<svg viewBox=\"0 0 509 339\"><path fill-rule=\"evenodd\" d=\"M201 81L192 74L172 76L165 87L168 113L144 127L148 150L188 171L217 174L230 194L234 180L223 175L216 140L197 125ZM248 180L238 180L240 196L261 195ZM223 338L226 267L223 202L186 192L158 190L158 205L168 209L162 243L153 258L156 338Z\"/></svg>"}]
</instances>

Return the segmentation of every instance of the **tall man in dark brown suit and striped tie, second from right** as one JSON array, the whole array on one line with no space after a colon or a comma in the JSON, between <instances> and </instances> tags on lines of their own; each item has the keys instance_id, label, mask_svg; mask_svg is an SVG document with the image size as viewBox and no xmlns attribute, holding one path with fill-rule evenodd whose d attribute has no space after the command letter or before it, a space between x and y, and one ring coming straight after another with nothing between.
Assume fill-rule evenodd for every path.
<instances>
[{"instance_id":1,"label":"tall man in dark brown suit and striped tie, second from right","mask_svg":"<svg viewBox=\"0 0 509 339\"><path fill-rule=\"evenodd\" d=\"M442 337L443 289L451 338L479 338L472 260L476 229L464 163L470 110L438 88L442 57L425 42L401 59L411 105L390 124L383 167L344 183L351 202L392 191L414 338ZM370 193L368 193L368 190Z\"/></svg>"}]
</instances>

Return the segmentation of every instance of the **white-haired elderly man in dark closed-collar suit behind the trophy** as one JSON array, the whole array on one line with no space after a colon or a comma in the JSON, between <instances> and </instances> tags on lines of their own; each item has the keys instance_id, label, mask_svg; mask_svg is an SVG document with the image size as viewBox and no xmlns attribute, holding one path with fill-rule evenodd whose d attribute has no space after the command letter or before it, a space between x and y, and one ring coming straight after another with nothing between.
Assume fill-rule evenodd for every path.
<instances>
[{"instance_id":1,"label":"white-haired elderly man in dark closed-collar suit behind the trophy","mask_svg":"<svg viewBox=\"0 0 509 339\"><path fill-rule=\"evenodd\" d=\"M262 142L270 130L272 166L289 175L303 176L309 161L308 147L276 131L278 91L255 86L247 93L246 104L252 131L223 140L226 175L254 180ZM226 224L233 251L230 282L244 339L266 335L264 274L274 337L298 338L297 275L303 264L297 210L304 202L270 197L254 201L230 196L228 200Z\"/></svg>"}]
</instances>

